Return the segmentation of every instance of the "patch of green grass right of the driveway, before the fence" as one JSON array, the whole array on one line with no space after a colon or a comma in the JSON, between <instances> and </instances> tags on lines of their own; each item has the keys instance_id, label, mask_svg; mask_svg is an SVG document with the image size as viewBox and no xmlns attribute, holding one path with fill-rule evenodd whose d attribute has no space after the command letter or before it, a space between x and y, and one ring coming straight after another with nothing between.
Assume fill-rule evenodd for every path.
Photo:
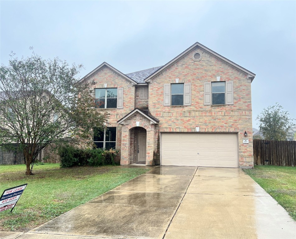
<instances>
[{"instance_id":1,"label":"patch of green grass right of the driveway, before the fence","mask_svg":"<svg viewBox=\"0 0 296 239\"><path fill-rule=\"evenodd\" d=\"M296 167L255 166L243 171L296 220Z\"/></svg>"}]
</instances>

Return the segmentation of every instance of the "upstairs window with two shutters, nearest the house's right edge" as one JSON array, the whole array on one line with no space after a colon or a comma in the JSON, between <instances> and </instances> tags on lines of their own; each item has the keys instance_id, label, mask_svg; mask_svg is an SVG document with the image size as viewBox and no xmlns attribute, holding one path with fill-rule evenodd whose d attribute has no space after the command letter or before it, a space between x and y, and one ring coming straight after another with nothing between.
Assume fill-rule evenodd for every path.
<instances>
[{"instance_id":1,"label":"upstairs window with two shutters, nearest the house's right edge","mask_svg":"<svg viewBox=\"0 0 296 239\"><path fill-rule=\"evenodd\" d=\"M204 105L233 105L233 81L204 82Z\"/></svg>"}]
</instances>

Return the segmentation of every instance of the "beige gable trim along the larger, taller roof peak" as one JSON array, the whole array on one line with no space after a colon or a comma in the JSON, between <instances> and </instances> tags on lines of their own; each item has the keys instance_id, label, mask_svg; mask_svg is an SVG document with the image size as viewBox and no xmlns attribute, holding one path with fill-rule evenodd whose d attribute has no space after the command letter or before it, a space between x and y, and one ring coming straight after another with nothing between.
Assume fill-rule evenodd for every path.
<instances>
[{"instance_id":1,"label":"beige gable trim along the larger, taller roof peak","mask_svg":"<svg viewBox=\"0 0 296 239\"><path fill-rule=\"evenodd\" d=\"M186 54L188 54L190 51L192 51L193 49L195 49L196 47L199 47L200 49L204 50L205 52L217 57L219 60L227 63L228 65L231 65L232 67L236 68L237 70L245 73L247 75L248 79L251 79L251 82L253 81L253 79L255 78L256 74L252 73L251 71L248 71L247 69L241 67L240 65L237 65L236 63L234 63L231 60L228 60L227 58L221 56L220 54L212 51L211 49L207 48L206 46L200 44L199 42L196 42L195 44L193 44L192 46L190 46L188 49L186 49L185 51L183 51L181 54L179 54L178 56L176 56L174 59L172 59L171 61L169 61L167 64L163 65L161 68L159 68L157 71L155 71L154 73L152 73L150 76L148 76L145 79L145 82L150 82L150 80L153 77L156 77L158 74L162 73L164 70L166 70L167 68L169 68L171 65L173 65L174 63L176 63L176 61L178 61L179 59L181 59L182 57L184 57Z\"/></svg>"}]
</instances>

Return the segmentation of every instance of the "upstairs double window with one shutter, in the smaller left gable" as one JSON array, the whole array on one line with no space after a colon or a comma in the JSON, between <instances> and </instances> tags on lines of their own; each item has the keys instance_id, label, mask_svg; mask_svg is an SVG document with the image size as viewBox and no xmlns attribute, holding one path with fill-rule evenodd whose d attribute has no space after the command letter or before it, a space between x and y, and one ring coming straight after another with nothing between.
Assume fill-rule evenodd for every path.
<instances>
[{"instance_id":1,"label":"upstairs double window with one shutter, in the smaller left gable","mask_svg":"<svg viewBox=\"0 0 296 239\"><path fill-rule=\"evenodd\" d=\"M117 88L95 89L95 108L116 108Z\"/></svg>"}]
</instances>

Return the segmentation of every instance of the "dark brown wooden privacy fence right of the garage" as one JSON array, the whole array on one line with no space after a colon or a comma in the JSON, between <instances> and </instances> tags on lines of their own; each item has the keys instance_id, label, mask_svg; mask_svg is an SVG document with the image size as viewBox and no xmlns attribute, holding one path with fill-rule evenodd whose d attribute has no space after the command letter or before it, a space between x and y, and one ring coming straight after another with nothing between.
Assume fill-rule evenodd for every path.
<instances>
[{"instance_id":1,"label":"dark brown wooden privacy fence right of the garage","mask_svg":"<svg viewBox=\"0 0 296 239\"><path fill-rule=\"evenodd\" d=\"M253 139L255 165L296 166L296 141Z\"/></svg>"}]
</instances>

